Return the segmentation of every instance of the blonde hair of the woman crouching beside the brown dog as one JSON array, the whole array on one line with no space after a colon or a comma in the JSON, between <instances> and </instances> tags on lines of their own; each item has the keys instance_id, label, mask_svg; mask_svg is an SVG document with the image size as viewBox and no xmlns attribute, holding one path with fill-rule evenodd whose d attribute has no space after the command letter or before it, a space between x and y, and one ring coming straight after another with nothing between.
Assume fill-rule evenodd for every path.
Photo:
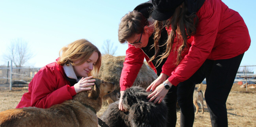
<instances>
[{"instance_id":1,"label":"blonde hair of the woman crouching beside the brown dog","mask_svg":"<svg viewBox=\"0 0 256 127\"><path fill-rule=\"evenodd\" d=\"M72 66L79 66L81 64L83 64L84 62L86 62L90 56L92 55L92 53L94 52L98 53L98 59L97 62L94 65L94 72L96 74L99 73L100 71L100 65L101 65L101 53L99 51L99 49L93 45L91 42L89 42L86 39L79 39L76 40L66 46L64 46L63 48L60 49L59 52L59 60L57 61L57 63L59 65L64 65L66 64L67 66L69 66L69 63L71 63ZM74 61L80 60L79 63L74 63ZM93 72L91 71L88 76L92 76Z\"/></svg>"}]
</instances>

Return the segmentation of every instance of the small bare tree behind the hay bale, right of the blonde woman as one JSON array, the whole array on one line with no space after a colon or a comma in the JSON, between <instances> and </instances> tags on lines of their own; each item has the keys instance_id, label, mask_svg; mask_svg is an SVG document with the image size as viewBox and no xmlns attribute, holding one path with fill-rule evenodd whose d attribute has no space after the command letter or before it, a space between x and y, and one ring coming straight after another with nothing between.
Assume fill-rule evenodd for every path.
<instances>
[{"instance_id":1,"label":"small bare tree behind the hay bale, right of the blonde woman","mask_svg":"<svg viewBox=\"0 0 256 127\"><path fill-rule=\"evenodd\" d=\"M111 43L109 39L106 39L102 46L103 54L114 55L117 50L117 46L115 46L114 48L113 45L114 45L113 42Z\"/></svg>"}]
</instances>

